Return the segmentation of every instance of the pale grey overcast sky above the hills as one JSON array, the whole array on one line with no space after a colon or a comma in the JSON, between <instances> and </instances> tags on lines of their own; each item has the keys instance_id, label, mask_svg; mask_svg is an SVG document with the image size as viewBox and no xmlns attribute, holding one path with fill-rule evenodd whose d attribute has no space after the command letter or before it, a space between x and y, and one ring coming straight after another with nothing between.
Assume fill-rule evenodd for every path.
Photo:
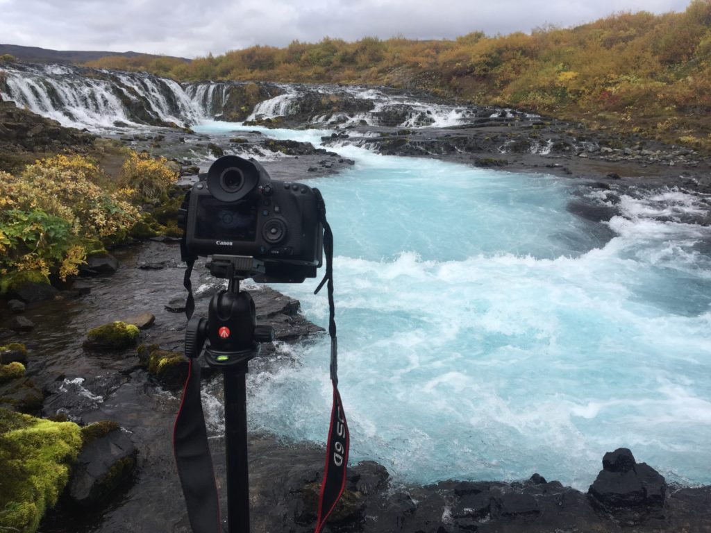
<instances>
[{"instance_id":1,"label":"pale grey overcast sky above the hills","mask_svg":"<svg viewBox=\"0 0 711 533\"><path fill-rule=\"evenodd\" d=\"M454 38L577 26L690 0L0 0L0 43L194 58L324 36Z\"/></svg>"}]
</instances>

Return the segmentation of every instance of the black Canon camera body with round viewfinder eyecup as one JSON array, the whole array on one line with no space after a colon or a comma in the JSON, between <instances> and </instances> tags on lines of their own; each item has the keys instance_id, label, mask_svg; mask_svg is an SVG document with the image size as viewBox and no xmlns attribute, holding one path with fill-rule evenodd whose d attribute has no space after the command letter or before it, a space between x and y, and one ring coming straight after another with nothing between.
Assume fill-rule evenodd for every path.
<instances>
[{"instance_id":1,"label":"black Canon camera body with round viewfinder eyecup","mask_svg":"<svg viewBox=\"0 0 711 533\"><path fill-rule=\"evenodd\" d=\"M307 185L272 181L257 161L220 157L179 216L186 252L255 257L265 269L255 281L301 283L321 266L319 198Z\"/></svg>"}]
</instances>

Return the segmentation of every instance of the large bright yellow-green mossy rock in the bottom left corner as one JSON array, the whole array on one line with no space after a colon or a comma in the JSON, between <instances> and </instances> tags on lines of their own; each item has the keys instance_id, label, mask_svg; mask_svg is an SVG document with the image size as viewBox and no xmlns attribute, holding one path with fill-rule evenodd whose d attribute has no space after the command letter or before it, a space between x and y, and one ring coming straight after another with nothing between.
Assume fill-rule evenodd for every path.
<instances>
[{"instance_id":1,"label":"large bright yellow-green mossy rock in the bottom left corner","mask_svg":"<svg viewBox=\"0 0 711 533\"><path fill-rule=\"evenodd\" d=\"M0 529L34 533L69 480L79 426L0 409Z\"/></svg>"}]
</instances>

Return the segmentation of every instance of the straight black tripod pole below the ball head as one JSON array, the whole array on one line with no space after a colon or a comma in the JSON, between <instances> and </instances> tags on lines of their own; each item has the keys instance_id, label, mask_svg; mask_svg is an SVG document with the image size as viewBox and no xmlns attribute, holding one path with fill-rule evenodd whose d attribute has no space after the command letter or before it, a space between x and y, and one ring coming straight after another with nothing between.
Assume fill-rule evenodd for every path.
<instances>
[{"instance_id":1,"label":"straight black tripod pole below the ball head","mask_svg":"<svg viewBox=\"0 0 711 533\"><path fill-rule=\"evenodd\" d=\"M225 458L228 532L250 532L250 480L247 465L247 363L223 371L225 379Z\"/></svg>"}]
</instances>

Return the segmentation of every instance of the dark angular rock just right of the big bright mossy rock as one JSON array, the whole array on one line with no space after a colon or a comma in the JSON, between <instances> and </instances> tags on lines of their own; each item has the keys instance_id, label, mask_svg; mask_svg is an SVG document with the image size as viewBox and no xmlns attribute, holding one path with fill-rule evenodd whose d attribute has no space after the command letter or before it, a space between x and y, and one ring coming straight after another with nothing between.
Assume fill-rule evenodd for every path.
<instances>
[{"instance_id":1,"label":"dark angular rock just right of the big bright mossy rock","mask_svg":"<svg viewBox=\"0 0 711 533\"><path fill-rule=\"evenodd\" d=\"M104 500L131 477L136 456L136 447L121 429L94 438L85 444L74 464L68 485L69 497L82 506Z\"/></svg>"}]
</instances>

